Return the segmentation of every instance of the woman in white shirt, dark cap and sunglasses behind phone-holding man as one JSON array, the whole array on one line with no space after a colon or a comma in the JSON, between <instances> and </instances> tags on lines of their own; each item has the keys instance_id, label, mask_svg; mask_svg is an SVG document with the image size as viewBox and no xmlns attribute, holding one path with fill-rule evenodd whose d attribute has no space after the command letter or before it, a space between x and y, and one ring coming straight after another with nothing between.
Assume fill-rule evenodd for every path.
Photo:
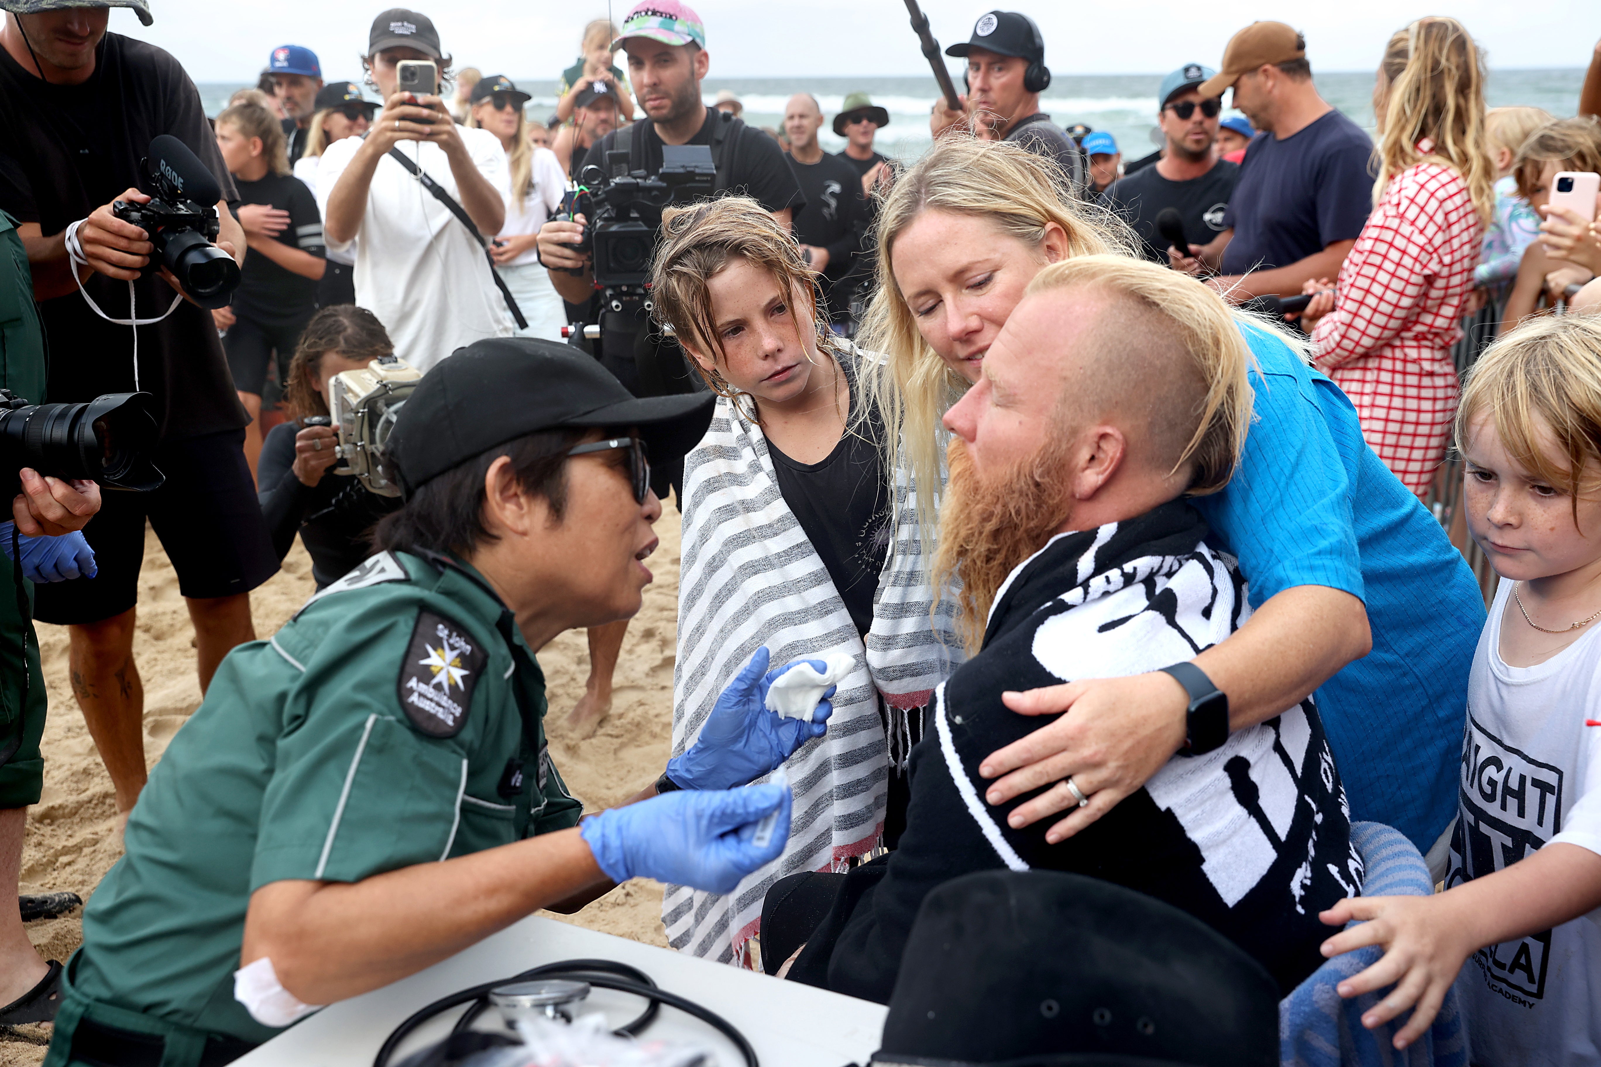
<instances>
[{"instance_id":1,"label":"woman in white shirt, dark cap and sunglasses behind phone-holding man","mask_svg":"<svg viewBox=\"0 0 1601 1067\"><path fill-rule=\"evenodd\" d=\"M549 274L540 266L535 242L540 227L560 206L567 178L554 152L530 142L522 114L527 102L528 94L504 75L484 78L472 86L467 125L488 130L506 147L511 190L506 198L506 226L495 238L493 256L506 288L517 298L517 307L528 320L528 328L517 333L560 341L567 312Z\"/></svg>"}]
</instances>

